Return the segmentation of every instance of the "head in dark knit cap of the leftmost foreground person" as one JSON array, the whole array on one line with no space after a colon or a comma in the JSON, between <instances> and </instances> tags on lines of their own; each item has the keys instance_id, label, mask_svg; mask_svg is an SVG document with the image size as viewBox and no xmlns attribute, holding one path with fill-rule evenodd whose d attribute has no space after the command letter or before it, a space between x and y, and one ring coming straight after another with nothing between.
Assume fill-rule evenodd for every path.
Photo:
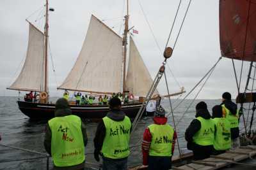
<instances>
[{"instance_id":1,"label":"head in dark knit cap of the leftmost foreground person","mask_svg":"<svg viewBox=\"0 0 256 170\"><path fill-rule=\"evenodd\" d=\"M56 101L55 117L61 115L71 115L71 113L72 111L70 110L67 99L60 98L58 101Z\"/></svg>"}]
</instances>

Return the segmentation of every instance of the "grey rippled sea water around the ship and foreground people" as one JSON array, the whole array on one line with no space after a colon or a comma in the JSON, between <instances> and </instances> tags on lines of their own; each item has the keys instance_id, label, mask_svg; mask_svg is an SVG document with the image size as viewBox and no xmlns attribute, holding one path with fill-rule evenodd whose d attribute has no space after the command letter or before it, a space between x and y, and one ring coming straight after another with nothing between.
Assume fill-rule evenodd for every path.
<instances>
[{"instance_id":1,"label":"grey rippled sea water around the ship and foreground people","mask_svg":"<svg viewBox=\"0 0 256 170\"><path fill-rule=\"evenodd\" d=\"M2 140L0 144L10 145L19 148L25 148L36 152L46 153L44 149L44 129L45 121L31 122L28 117L20 112L17 106L18 97L0 97L0 135ZM180 148L186 148L186 141L184 139L184 132L186 127L193 118L195 118L195 104L202 100L196 100L191 104L192 100L186 100L178 108L180 100L172 100L172 108L175 122L177 124L177 134ZM220 104L220 100L204 100L211 112L212 106ZM164 100L161 103L167 111L170 111L170 103ZM189 105L191 107L188 109ZM184 117L182 115L186 111ZM246 112L247 114L247 112ZM245 116L246 116L245 114ZM247 117L247 116L246 116ZM249 117L250 118L250 117ZM145 127L152 124L152 118L145 117L140 120L136 132L131 136L131 155L129 156L129 166L136 166L141 164L141 139L143 138L143 132ZM172 116L168 117L168 122L173 125ZM86 162L92 162L98 164L93 158L93 138L97 128L97 123L86 121L86 128L88 134L88 145L86 146ZM243 122L240 123L241 131L243 130ZM179 154L177 143L175 146L175 155ZM36 157L42 157L35 153L29 153L22 150L16 150L5 146L0 146L0 169L46 169L45 158L32 159ZM24 160L29 159L29 160ZM52 162L50 160L50 169L52 169Z\"/></svg>"}]
</instances>

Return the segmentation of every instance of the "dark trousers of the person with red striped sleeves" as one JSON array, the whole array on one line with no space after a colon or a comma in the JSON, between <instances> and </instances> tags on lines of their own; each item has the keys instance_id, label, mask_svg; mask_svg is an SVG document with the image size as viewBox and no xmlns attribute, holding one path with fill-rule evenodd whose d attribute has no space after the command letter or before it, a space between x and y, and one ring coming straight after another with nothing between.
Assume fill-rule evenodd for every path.
<instances>
[{"instance_id":1,"label":"dark trousers of the person with red striped sleeves","mask_svg":"<svg viewBox=\"0 0 256 170\"><path fill-rule=\"evenodd\" d=\"M172 167L172 157L148 156L148 170L168 170Z\"/></svg>"}]
</instances>

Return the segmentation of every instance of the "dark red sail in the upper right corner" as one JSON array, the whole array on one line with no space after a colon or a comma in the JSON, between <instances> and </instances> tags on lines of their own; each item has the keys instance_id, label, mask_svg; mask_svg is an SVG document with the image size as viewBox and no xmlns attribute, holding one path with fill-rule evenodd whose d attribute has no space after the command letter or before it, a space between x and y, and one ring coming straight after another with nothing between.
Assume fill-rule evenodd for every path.
<instances>
[{"instance_id":1,"label":"dark red sail in the upper right corner","mask_svg":"<svg viewBox=\"0 0 256 170\"><path fill-rule=\"evenodd\" d=\"M220 0L221 55L256 61L256 0Z\"/></svg>"}]
</instances>

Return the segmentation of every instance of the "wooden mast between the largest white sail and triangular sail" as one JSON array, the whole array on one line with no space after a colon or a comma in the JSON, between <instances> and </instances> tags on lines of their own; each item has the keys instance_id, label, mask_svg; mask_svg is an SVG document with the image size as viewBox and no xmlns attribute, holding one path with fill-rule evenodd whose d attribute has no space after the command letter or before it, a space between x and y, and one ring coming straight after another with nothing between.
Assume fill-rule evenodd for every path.
<instances>
[{"instance_id":1,"label":"wooden mast between the largest white sail and triangular sail","mask_svg":"<svg viewBox=\"0 0 256 170\"><path fill-rule=\"evenodd\" d=\"M128 34L128 20L129 20L129 1L127 0L127 15L125 15L125 29L123 37L124 46L124 71L123 71L123 94L125 91L125 75L126 75L126 55L127 55L127 34Z\"/></svg>"}]
</instances>

